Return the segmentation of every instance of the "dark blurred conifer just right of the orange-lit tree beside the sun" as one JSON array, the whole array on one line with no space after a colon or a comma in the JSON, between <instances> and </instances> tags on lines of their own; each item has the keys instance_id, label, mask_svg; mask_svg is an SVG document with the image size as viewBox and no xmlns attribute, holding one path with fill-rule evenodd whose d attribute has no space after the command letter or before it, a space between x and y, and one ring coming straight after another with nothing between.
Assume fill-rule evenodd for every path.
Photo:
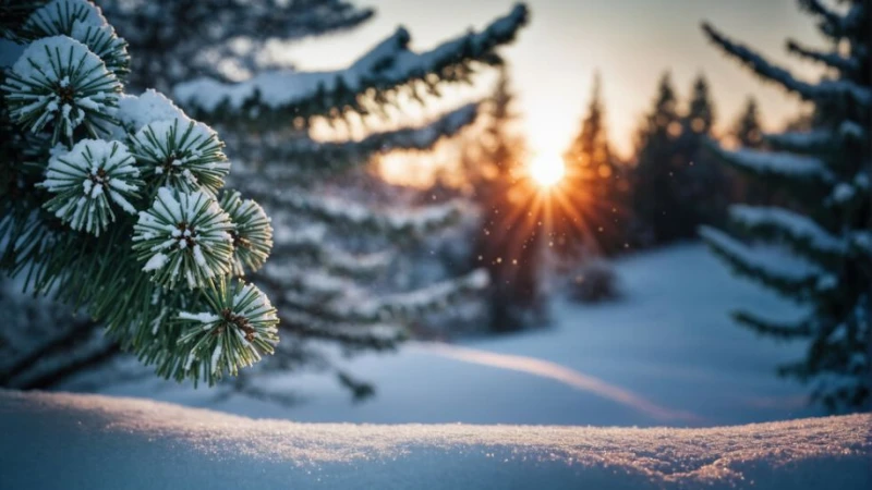
<instances>
[{"instance_id":1,"label":"dark blurred conifer just right of the orange-lit tree beside the sun","mask_svg":"<svg viewBox=\"0 0 872 490\"><path fill-rule=\"evenodd\" d=\"M676 236L673 213L679 201L673 192L673 181L681 163L677 146L681 118L666 73L661 77L654 107L639 131L635 167L631 172L631 236L637 246L662 245Z\"/></svg>"}]
</instances>

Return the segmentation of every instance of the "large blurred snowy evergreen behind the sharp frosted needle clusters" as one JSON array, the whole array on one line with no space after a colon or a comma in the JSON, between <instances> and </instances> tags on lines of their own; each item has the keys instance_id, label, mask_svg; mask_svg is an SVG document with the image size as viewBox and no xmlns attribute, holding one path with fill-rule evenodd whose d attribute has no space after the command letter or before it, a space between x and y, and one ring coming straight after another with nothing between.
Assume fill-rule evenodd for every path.
<instances>
[{"instance_id":1,"label":"large blurred snowy evergreen behind the sharp frosted needle clusters","mask_svg":"<svg viewBox=\"0 0 872 490\"><path fill-rule=\"evenodd\" d=\"M421 127L373 132L359 140L319 142L311 128L315 119L336 123L354 113L384 114L405 95L423 101L443 85L469 81L477 66L500 63L495 49L511 41L525 22L522 5L486 29L433 51L411 51L410 36L400 28L348 69L308 73L264 62L259 47L353 27L372 12L334 0L102 3L120 34L131 38L134 59L144 60L132 65L140 70L131 75L134 84L167 87L185 111L219 127L234 161L230 182L256 196L272 217L275 260L252 279L276 301L282 342L263 368L327 366L320 344L312 339L335 341L347 352L392 348L413 318L482 285L482 275L473 273L424 291L386 295L384 281L374 278L389 264L387 249L451 223L460 206L387 211L384 203L365 203L364 193L355 194L342 176L378 154L431 148L470 124L476 105ZM256 49L240 51L240 45ZM230 74L244 79L233 82ZM152 90L138 99L155 112L168 105ZM243 217L250 211L234 194L221 203ZM235 236L234 243L249 253L232 264L237 273L263 250ZM339 372L339 379L355 393L368 390L348 373ZM251 381L240 376L231 388L277 395Z\"/></svg>"}]
</instances>

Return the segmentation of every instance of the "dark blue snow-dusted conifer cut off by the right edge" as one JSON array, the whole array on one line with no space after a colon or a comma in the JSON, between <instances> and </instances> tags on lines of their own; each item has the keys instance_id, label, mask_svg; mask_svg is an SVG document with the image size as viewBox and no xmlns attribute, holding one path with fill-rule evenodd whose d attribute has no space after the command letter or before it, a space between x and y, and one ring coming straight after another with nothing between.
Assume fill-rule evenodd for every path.
<instances>
[{"instance_id":1,"label":"dark blue snow-dusted conifer cut off by the right edge","mask_svg":"<svg viewBox=\"0 0 872 490\"><path fill-rule=\"evenodd\" d=\"M736 319L767 335L808 342L806 357L783 366L780 372L812 382L813 399L832 411L868 408L872 380L872 11L869 0L843 3L836 10L818 0L799 1L831 42L828 49L788 42L791 53L827 69L816 83L796 78L703 25L706 36L727 54L815 107L810 131L765 136L772 152L715 147L734 167L804 204L801 213L779 207L730 208L736 226L754 242L785 249L796 259L791 267L777 267L738 236L711 228L704 228L702 235L737 273L792 298L808 311L798 320L750 311L737 313Z\"/></svg>"}]
</instances>

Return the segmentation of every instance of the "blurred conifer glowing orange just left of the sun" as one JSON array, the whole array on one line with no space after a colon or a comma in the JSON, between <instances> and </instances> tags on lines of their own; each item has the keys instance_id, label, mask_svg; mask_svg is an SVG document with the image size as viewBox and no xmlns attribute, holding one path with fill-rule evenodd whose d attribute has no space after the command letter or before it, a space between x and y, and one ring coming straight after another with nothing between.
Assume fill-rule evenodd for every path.
<instances>
[{"instance_id":1,"label":"blurred conifer glowing orange just left of the sun","mask_svg":"<svg viewBox=\"0 0 872 490\"><path fill-rule=\"evenodd\" d=\"M532 205L525 145L512 133L514 96L504 70L488 103L488 121L471 175L482 212L471 268L487 270L491 330L529 328L544 317L541 286L542 216Z\"/></svg>"}]
</instances>

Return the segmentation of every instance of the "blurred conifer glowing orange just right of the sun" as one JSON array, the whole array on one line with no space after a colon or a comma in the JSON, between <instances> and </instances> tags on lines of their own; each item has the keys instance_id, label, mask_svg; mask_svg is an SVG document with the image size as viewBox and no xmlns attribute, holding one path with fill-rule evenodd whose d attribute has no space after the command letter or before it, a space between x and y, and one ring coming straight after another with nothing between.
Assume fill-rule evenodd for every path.
<instances>
[{"instance_id":1,"label":"blurred conifer glowing orange just right of the sun","mask_svg":"<svg viewBox=\"0 0 872 490\"><path fill-rule=\"evenodd\" d=\"M608 140L598 74L588 113L564 162L566 176L554 191L560 193L555 195L552 230L555 252L572 260L623 250L629 185Z\"/></svg>"}]
</instances>

